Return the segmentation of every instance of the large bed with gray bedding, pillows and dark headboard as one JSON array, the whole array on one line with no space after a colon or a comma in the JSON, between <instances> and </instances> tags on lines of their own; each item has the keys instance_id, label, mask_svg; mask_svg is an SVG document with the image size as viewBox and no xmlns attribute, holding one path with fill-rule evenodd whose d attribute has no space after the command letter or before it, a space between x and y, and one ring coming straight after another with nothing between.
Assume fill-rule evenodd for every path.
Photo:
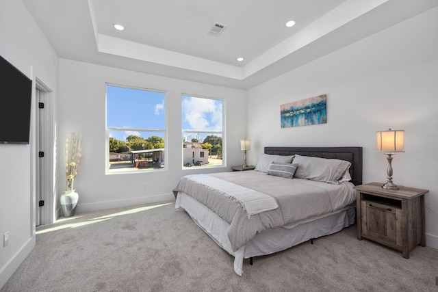
<instances>
[{"instance_id":1,"label":"large bed with gray bedding, pillows and dark headboard","mask_svg":"<svg viewBox=\"0 0 438 292\"><path fill-rule=\"evenodd\" d=\"M234 256L272 254L355 224L361 147L265 147L255 170L191 174L174 189L175 209Z\"/></svg>"}]
</instances>

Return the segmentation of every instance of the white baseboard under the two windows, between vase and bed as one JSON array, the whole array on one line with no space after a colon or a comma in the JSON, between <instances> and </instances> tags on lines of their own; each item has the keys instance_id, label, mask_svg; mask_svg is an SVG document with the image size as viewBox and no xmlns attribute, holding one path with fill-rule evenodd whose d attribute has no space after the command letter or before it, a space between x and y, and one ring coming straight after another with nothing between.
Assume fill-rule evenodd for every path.
<instances>
[{"instance_id":1,"label":"white baseboard under the two windows, between vase and bed","mask_svg":"<svg viewBox=\"0 0 438 292\"><path fill-rule=\"evenodd\" d=\"M155 202L168 202L170 200L175 200L173 194L161 194L155 196L146 196L140 198L127 198L123 200L113 200L105 202L95 202L90 204L78 204L75 213L86 213L91 211L98 211L104 209L112 209L118 207L133 206L136 204L150 204Z\"/></svg>"}]
</instances>

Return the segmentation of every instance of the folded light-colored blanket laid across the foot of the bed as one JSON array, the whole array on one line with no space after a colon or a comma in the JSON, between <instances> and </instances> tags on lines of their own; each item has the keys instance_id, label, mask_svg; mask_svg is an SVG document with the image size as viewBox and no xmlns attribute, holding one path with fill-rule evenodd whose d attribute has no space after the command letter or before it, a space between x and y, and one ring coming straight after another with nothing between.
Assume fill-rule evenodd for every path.
<instances>
[{"instance_id":1,"label":"folded light-colored blanket laid across the foot of the bed","mask_svg":"<svg viewBox=\"0 0 438 292\"><path fill-rule=\"evenodd\" d=\"M231 183L230 181L224 181L221 178L207 174L192 174L185 176L185 178L194 181L194 183L203 185L203 187L207 187L208 189L218 191L223 196L240 203L248 214L248 217L279 207L272 196L264 194L261 191L255 191L254 189Z\"/></svg>"}]
</instances>

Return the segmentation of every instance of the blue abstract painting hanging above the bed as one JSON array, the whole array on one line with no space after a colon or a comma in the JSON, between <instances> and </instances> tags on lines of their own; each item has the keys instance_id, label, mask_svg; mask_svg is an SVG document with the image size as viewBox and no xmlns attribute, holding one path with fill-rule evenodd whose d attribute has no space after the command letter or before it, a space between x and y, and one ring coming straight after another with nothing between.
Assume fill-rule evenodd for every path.
<instances>
[{"instance_id":1,"label":"blue abstract painting hanging above the bed","mask_svg":"<svg viewBox=\"0 0 438 292\"><path fill-rule=\"evenodd\" d=\"M327 122L326 94L280 106L281 127L298 127Z\"/></svg>"}]
</instances>

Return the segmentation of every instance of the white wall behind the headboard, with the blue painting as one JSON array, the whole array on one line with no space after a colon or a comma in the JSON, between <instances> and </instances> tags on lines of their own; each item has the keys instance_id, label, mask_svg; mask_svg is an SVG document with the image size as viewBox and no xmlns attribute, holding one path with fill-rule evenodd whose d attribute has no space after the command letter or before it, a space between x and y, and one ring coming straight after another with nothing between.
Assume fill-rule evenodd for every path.
<instances>
[{"instance_id":1,"label":"white wall behind the headboard, with the blue painting","mask_svg":"<svg viewBox=\"0 0 438 292\"><path fill-rule=\"evenodd\" d=\"M376 131L405 131L394 183L429 189L426 245L438 248L438 11L424 12L248 91L248 161L263 146L362 146L363 183L385 182ZM281 129L280 105L327 95L327 123Z\"/></svg>"}]
</instances>

